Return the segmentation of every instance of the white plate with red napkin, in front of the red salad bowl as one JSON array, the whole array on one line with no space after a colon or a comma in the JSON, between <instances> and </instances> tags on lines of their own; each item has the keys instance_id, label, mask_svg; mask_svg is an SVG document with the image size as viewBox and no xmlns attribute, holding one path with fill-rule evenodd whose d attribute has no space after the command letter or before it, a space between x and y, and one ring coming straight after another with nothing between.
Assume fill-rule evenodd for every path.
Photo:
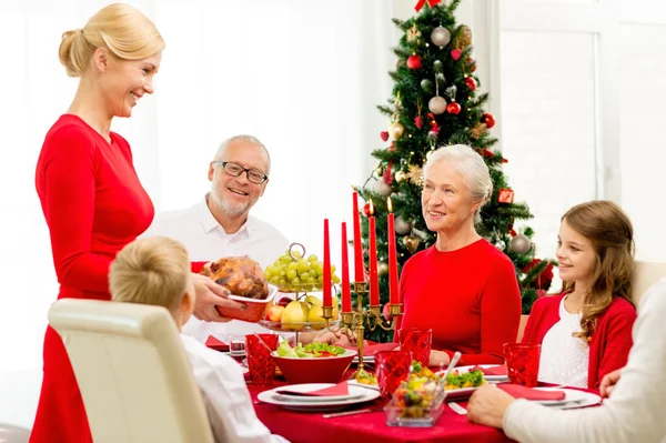
<instances>
[{"instance_id":1,"label":"white plate with red napkin, in front of the red salad bowl","mask_svg":"<svg viewBox=\"0 0 666 443\"><path fill-rule=\"evenodd\" d=\"M316 389L324 389L334 386L333 383L305 383L305 384L291 384L286 386L274 387L269 391L261 392L256 399L264 403L276 404L287 410L293 411L336 411L347 409L350 405L369 402L380 396L380 392L375 390L369 390L361 386L350 385L350 394L355 395L354 399L346 400L330 400L321 402L312 402L306 400L307 397L294 397L294 400L285 399L284 395L276 394L275 391L281 389L290 390L303 390L314 391ZM357 395L357 396L356 396Z\"/></svg>"}]
</instances>

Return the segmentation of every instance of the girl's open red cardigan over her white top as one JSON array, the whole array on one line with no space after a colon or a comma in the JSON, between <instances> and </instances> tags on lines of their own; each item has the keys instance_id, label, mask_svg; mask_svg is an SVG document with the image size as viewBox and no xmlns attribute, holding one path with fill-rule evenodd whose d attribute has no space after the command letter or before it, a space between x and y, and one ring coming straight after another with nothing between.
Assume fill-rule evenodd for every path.
<instances>
[{"instance_id":1,"label":"girl's open red cardigan over her white top","mask_svg":"<svg viewBox=\"0 0 666 443\"><path fill-rule=\"evenodd\" d=\"M532 305L523 343L543 342L546 332L559 321L559 303L565 295L544 296ZM597 316L588 342L587 387L598 389L604 375L627 364L635 321L636 310L632 303L619 298L613 300L606 311Z\"/></svg>"}]
</instances>

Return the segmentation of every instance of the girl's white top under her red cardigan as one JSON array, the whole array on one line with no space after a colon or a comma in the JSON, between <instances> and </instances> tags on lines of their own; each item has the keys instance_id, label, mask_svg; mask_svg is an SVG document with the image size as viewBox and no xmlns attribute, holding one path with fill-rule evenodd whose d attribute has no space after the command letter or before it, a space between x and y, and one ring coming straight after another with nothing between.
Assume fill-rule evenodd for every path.
<instances>
[{"instance_id":1,"label":"girl's white top under her red cardigan","mask_svg":"<svg viewBox=\"0 0 666 443\"><path fill-rule=\"evenodd\" d=\"M587 387L589 345L572 335L581 331L582 313L568 313L564 308L565 300L566 296L559 302L559 321L542 341L538 381Z\"/></svg>"}]
</instances>

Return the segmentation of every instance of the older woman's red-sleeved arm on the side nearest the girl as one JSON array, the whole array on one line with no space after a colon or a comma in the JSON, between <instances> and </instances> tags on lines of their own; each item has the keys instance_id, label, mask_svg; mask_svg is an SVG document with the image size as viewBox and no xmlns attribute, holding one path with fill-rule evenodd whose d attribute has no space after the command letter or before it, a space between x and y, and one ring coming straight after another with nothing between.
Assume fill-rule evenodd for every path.
<instances>
[{"instance_id":1,"label":"older woman's red-sleeved arm on the side nearest the girl","mask_svg":"<svg viewBox=\"0 0 666 443\"><path fill-rule=\"evenodd\" d=\"M512 262L501 261L492 268L481 296L481 353L463 354L458 365L502 364L504 343L518 336L521 291ZM454 354L444 352L450 358Z\"/></svg>"}]
</instances>

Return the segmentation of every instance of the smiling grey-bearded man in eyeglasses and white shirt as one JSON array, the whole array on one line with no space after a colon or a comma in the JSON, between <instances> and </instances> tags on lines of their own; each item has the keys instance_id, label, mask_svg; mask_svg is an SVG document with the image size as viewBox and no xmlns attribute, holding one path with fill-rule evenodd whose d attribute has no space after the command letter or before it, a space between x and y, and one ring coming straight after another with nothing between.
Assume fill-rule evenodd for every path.
<instances>
[{"instance_id":1,"label":"smiling grey-bearded man in eyeglasses and white shirt","mask_svg":"<svg viewBox=\"0 0 666 443\"><path fill-rule=\"evenodd\" d=\"M248 255L262 269L289 248L286 238L270 223L250 215L263 195L271 157L252 135L235 135L220 144L208 171L211 190L195 205L155 217L143 235L165 235L182 242L193 261L216 261L222 256ZM223 301L224 303L231 300ZM209 335L225 340L229 334L266 332L248 322L222 318L210 303L184 325L183 332L205 342Z\"/></svg>"}]
</instances>

